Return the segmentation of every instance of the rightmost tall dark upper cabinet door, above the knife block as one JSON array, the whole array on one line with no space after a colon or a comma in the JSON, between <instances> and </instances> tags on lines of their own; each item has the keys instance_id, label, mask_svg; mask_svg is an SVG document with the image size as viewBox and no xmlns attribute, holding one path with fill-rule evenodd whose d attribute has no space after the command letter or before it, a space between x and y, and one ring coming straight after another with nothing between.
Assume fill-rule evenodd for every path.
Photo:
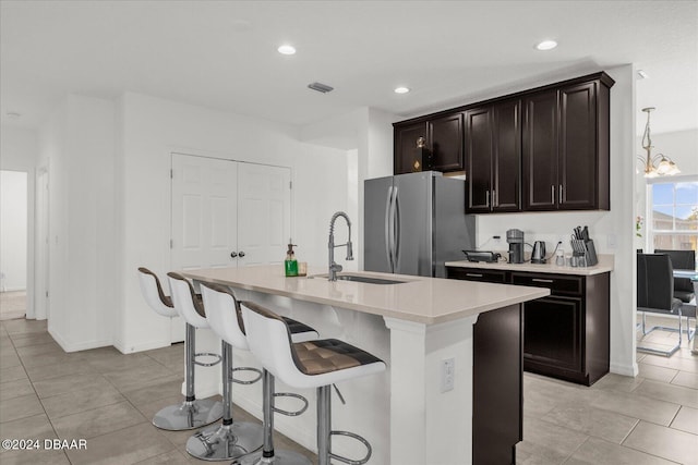
<instances>
[{"instance_id":1,"label":"rightmost tall dark upper cabinet door, above the knife block","mask_svg":"<svg viewBox=\"0 0 698 465\"><path fill-rule=\"evenodd\" d=\"M597 83L559 90L561 209L597 208Z\"/></svg>"}]
</instances>

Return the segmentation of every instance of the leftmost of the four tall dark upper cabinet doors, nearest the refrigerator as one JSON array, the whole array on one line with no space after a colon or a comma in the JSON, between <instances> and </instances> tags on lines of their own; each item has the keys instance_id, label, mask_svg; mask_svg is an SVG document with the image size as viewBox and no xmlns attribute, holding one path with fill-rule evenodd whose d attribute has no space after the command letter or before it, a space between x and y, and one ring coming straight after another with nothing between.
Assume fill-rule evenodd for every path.
<instances>
[{"instance_id":1,"label":"leftmost of the four tall dark upper cabinet doors, nearest the refrigerator","mask_svg":"<svg viewBox=\"0 0 698 465\"><path fill-rule=\"evenodd\" d=\"M492 206L492 108L466 111L468 213L486 213Z\"/></svg>"}]
</instances>

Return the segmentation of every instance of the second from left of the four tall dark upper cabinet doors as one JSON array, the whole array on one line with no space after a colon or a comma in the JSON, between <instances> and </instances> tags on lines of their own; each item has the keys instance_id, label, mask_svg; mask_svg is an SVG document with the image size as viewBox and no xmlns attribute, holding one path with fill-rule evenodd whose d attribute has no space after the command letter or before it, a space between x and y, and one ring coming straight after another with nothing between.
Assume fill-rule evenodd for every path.
<instances>
[{"instance_id":1,"label":"second from left of the four tall dark upper cabinet doors","mask_svg":"<svg viewBox=\"0 0 698 465\"><path fill-rule=\"evenodd\" d=\"M493 108L492 211L521 210L521 100Z\"/></svg>"}]
</instances>

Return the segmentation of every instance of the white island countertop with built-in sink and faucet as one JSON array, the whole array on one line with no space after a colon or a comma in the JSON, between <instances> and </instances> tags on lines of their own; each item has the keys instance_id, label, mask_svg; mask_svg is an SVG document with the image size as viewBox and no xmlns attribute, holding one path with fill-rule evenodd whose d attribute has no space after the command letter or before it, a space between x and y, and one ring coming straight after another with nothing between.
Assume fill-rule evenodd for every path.
<instances>
[{"instance_id":1,"label":"white island countertop with built-in sink and faucet","mask_svg":"<svg viewBox=\"0 0 698 465\"><path fill-rule=\"evenodd\" d=\"M309 276L326 273L312 267ZM543 287L491 284L375 272L348 272L406 281L400 284L329 282L327 278L286 278L284 266L208 268L182 271L186 278L274 295L334 305L425 325L450 321L550 295Z\"/></svg>"}]
</instances>

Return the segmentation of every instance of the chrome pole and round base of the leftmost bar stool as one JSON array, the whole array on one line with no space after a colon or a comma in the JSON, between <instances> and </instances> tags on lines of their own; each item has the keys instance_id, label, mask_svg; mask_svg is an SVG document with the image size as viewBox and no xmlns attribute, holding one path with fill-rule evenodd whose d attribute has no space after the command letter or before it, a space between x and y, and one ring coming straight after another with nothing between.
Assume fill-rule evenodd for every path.
<instances>
[{"instance_id":1,"label":"chrome pole and round base of the leftmost bar stool","mask_svg":"<svg viewBox=\"0 0 698 465\"><path fill-rule=\"evenodd\" d=\"M179 405L169 405L153 417L153 425L160 429L181 431L209 425L222 417L222 404L210 399L197 400L194 394L194 357L196 343L196 328L186 325L184 336L184 352L186 371L186 397Z\"/></svg>"}]
</instances>

